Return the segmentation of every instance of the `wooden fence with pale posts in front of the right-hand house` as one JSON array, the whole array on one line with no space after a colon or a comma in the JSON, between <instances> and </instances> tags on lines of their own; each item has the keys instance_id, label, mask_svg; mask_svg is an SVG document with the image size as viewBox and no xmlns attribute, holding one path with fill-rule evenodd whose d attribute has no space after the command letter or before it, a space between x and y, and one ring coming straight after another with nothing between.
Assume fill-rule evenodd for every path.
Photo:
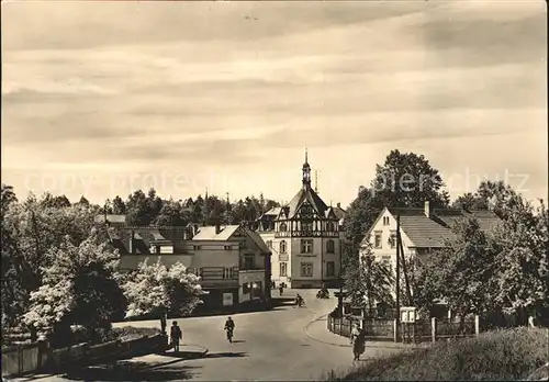
<instances>
[{"instance_id":1,"label":"wooden fence with pale posts in front of the right-hand house","mask_svg":"<svg viewBox=\"0 0 549 382\"><path fill-rule=\"evenodd\" d=\"M366 330L366 337L376 341L425 342L448 338L474 337L479 334L479 318L467 319L463 325L451 319L418 319L401 323L400 338L395 338L395 319L361 319L358 317L327 317L327 329L344 337L350 337L355 324Z\"/></svg>"}]
</instances>

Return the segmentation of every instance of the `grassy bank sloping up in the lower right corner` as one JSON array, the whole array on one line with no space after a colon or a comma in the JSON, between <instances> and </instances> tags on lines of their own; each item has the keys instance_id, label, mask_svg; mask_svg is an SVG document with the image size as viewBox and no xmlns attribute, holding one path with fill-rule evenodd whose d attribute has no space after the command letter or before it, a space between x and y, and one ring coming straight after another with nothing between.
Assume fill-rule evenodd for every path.
<instances>
[{"instance_id":1,"label":"grassy bank sloping up in the lower right corner","mask_svg":"<svg viewBox=\"0 0 549 382\"><path fill-rule=\"evenodd\" d=\"M327 381L512 381L549 360L547 329L501 329L361 362Z\"/></svg>"}]
</instances>

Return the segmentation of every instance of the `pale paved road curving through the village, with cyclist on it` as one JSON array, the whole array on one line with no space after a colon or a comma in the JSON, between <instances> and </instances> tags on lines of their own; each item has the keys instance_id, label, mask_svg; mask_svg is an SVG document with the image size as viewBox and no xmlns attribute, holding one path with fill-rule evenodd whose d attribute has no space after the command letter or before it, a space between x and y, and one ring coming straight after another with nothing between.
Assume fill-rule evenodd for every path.
<instances>
[{"instance_id":1,"label":"pale paved road curving through the village, with cyclist on it","mask_svg":"<svg viewBox=\"0 0 549 382\"><path fill-rule=\"evenodd\" d=\"M284 295L295 292L287 291ZM134 359L134 371L88 371L81 375L51 377L47 381L232 381L232 380L318 380L324 371L347 369L352 355L349 348L332 346L305 336L304 327L328 313L334 299L316 300L315 290L300 291L306 307L283 306L269 312L233 315L234 342L223 332L226 316L181 318L183 342L209 349L203 359L146 356ZM157 322L132 323L157 326ZM368 355L365 355L368 357Z\"/></svg>"}]
</instances>

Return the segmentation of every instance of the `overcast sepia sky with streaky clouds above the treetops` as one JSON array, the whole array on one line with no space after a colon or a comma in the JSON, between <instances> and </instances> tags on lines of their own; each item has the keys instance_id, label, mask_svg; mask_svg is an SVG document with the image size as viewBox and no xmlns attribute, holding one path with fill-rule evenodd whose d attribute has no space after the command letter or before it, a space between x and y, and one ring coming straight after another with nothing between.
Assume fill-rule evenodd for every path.
<instances>
[{"instance_id":1,"label":"overcast sepia sky with streaky clouds above the treetops","mask_svg":"<svg viewBox=\"0 0 549 382\"><path fill-rule=\"evenodd\" d=\"M393 148L547 195L545 1L2 3L2 182L347 205ZM464 179L469 177L468 184Z\"/></svg>"}]
</instances>

